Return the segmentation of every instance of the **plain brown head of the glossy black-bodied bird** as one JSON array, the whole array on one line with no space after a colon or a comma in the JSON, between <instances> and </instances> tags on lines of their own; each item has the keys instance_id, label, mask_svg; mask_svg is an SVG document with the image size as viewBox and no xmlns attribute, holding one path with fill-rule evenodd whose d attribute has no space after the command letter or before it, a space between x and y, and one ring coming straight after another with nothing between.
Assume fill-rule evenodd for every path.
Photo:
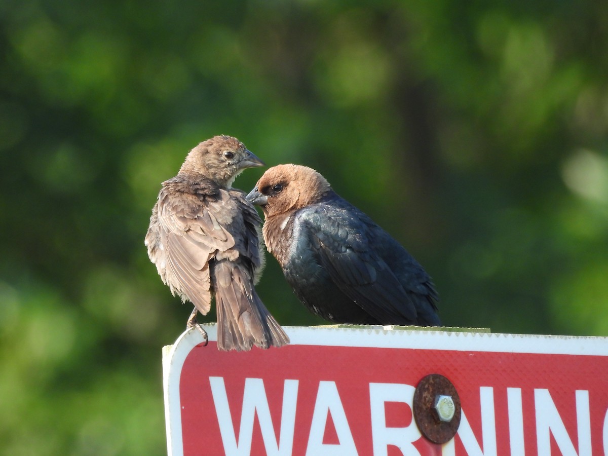
<instances>
[{"instance_id":1,"label":"plain brown head of the glossy black-bodied bird","mask_svg":"<svg viewBox=\"0 0 608 456\"><path fill-rule=\"evenodd\" d=\"M277 165L261 176L247 200L261 206L268 218L313 204L330 191L329 182L313 168Z\"/></svg>"}]
</instances>

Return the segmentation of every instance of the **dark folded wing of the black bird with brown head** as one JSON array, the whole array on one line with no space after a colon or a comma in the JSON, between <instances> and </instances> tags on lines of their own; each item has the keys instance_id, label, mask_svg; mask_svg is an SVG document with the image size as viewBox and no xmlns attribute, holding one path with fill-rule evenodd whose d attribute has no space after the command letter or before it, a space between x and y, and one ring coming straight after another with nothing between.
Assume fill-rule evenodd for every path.
<instances>
[{"instance_id":1,"label":"dark folded wing of the black bird with brown head","mask_svg":"<svg viewBox=\"0 0 608 456\"><path fill-rule=\"evenodd\" d=\"M416 308L389 266L376 254L354 207L318 205L306 211L311 247L336 286L379 322L412 324Z\"/></svg>"}]
</instances>

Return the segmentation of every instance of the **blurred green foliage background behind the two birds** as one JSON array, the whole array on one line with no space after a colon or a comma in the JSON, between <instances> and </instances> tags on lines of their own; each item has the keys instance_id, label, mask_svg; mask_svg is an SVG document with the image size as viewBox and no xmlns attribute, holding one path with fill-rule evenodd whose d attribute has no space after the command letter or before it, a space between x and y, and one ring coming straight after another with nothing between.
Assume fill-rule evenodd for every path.
<instances>
[{"instance_id":1,"label":"blurred green foliage background behind the two birds","mask_svg":"<svg viewBox=\"0 0 608 456\"><path fill-rule=\"evenodd\" d=\"M3 0L0 49L1 454L165 454L191 308L143 236L215 134L323 173L445 325L608 335L606 1ZM323 323L274 258L258 289Z\"/></svg>"}]
</instances>

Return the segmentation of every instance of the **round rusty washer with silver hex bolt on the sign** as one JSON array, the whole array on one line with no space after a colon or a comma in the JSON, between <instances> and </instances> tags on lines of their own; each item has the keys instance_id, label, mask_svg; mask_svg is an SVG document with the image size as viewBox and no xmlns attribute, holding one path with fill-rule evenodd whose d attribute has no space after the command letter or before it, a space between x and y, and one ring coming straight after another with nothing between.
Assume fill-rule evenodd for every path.
<instances>
[{"instance_id":1,"label":"round rusty washer with silver hex bolt on the sign","mask_svg":"<svg viewBox=\"0 0 608 456\"><path fill-rule=\"evenodd\" d=\"M433 443L451 440L460 425L460 397L443 375L430 374L416 386L413 401L416 425Z\"/></svg>"}]
</instances>

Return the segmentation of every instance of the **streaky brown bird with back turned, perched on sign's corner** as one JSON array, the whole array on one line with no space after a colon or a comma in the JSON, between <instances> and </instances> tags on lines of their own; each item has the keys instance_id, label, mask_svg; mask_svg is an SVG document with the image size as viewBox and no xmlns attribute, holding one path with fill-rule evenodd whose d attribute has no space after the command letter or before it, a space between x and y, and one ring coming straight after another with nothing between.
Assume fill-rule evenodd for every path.
<instances>
[{"instance_id":1,"label":"streaky brown bird with back turned, perched on sign's corner","mask_svg":"<svg viewBox=\"0 0 608 456\"><path fill-rule=\"evenodd\" d=\"M148 257L173 295L205 315L215 294L219 350L250 350L288 344L289 338L261 302L254 279L263 268L260 216L232 188L246 168L263 166L230 136L201 142L177 176L162 183L145 238Z\"/></svg>"}]
</instances>

